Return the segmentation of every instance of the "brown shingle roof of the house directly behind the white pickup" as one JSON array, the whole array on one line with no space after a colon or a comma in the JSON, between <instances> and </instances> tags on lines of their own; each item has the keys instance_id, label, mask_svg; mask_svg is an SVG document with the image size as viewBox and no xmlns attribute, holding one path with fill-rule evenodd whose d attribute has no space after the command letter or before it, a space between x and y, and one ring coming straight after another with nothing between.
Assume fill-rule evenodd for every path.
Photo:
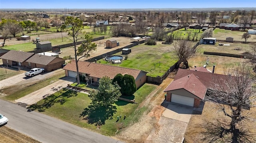
<instances>
[{"instance_id":1,"label":"brown shingle roof of the house directly behind the white pickup","mask_svg":"<svg viewBox=\"0 0 256 143\"><path fill-rule=\"evenodd\" d=\"M48 65L51 61L53 61L56 58L57 57L54 57L54 56L35 54L32 57L30 57L26 62L41 64L41 65Z\"/></svg>"}]
</instances>

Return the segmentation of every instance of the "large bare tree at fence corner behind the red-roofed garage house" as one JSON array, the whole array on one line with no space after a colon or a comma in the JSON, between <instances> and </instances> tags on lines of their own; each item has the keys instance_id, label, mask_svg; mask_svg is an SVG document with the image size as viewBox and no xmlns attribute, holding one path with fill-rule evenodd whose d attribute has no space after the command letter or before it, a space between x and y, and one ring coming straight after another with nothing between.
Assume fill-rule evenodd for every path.
<instances>
[{"instance_id":1,"label":"large bare tree at fence corner behind the red-roofed garage house","mask_svg":"<svg viewBox=\"0 0 256 143\"><path fill-rule=\"evenodd\" d=\"M179 40L174 43L174 53L180 62L183 62L188 69L188 59L195 55L195 49L192 49L192 44L187 40Z\"/></svg>"}]
</instances>

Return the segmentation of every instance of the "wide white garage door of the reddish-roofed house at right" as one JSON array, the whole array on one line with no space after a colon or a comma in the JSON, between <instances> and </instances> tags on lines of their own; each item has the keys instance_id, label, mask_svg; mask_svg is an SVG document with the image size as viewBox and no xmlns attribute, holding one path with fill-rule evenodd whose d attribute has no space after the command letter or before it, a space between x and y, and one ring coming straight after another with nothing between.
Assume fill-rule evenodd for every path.
<instances>
[{"instance_id":1,"label":"wide white garage door of the reddish-roofed house at right","mask_svg":"<svg viewBox=\"0 0 256 143\"><path fill-rule=\"evenodd\" d=\"M172 94L171 102L194 107L194 98Z\"/></svg>"}]
</instances>

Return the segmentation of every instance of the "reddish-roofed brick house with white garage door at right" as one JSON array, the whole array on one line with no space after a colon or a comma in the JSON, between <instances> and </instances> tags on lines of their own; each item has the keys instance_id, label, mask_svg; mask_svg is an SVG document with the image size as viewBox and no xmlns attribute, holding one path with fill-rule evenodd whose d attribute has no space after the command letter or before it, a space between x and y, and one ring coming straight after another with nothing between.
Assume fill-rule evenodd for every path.
<instances>
[{"instance_id":1,"label":"reddish-roofed brick house with white garage door at right","mask_svg":"<svg viewBox=\"0 0 256 143\"><path fill-rule=\"evenodd\" d=\"M198 108L207 94L207 89L213 87L217 79L227 77L211 73L203 67L193 70L178 69L174 80L164 90L167 93L166 101Z\"/></svg>"}]
</instances>

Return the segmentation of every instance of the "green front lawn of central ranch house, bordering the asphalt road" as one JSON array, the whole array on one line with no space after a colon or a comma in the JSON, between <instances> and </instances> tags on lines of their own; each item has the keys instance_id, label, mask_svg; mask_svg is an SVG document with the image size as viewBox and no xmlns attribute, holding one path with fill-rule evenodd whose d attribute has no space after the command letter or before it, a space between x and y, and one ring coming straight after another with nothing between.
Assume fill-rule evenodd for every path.
<instances>
[{"instance_id":1,"label":"green front lawn of central ranch house, bordering the asphalt road","mask_svg":"<svg viewBox=\"0 0 256 143\"><path fill-rule=\"evenodd\" d=\"M112 136L118 129L126 127L142 116L142 113L147 110L147 107L138 108L138 106L156 87L153 84L144 84L134 93L134 99L138 104L118 100L112 105L112 108L105 109L100 107L90 110L93 115L89 119L80 117L80 114L84 111L84 108L90 105L90 98L86 94L72 90L62 91L62 93L56 92L54 95L37 102L37 105L31 106L30 109L38 110L44 114L104 135ZM110 114L113 116L109 116ZM117 116L120 115L122 118L117 121ZM124 115L126 115L126 119L124 119ZM97 125L99 119L104 124Z\"/></svg>"}]
</instances>

